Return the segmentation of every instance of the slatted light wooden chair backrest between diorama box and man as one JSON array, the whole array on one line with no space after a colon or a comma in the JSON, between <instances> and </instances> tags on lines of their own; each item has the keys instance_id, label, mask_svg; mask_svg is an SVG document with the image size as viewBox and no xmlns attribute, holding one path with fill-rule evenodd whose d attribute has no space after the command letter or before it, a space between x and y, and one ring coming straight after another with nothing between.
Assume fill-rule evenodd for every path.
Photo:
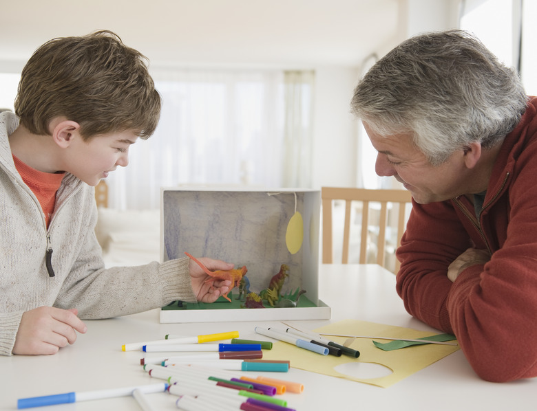
<instances>
[{"instance_id":1,"label":"slatted light wooden chair backrest between diorama box and man","mask_svg":"<svg viewBox=\"0 0 537 411\"><path fill-rule=\"evenodd\" d=\"M333 263L333 201L345 201L345 219L343 230L343 250L341 263L348 263L349 256L349 238L350 238L350 216L352 213L352 201L361 201L361 235L359 248L359 263L367 262L367 246L369 230L371 225L369 221L369 209L371 203L380 204L379 213L379 235L377 237L377 261L376 263L382 267L386 267L386 222L388 218L388 203L399 204L399 212L397 214L397 241L395 247L399 247L401 236L405 230L405 211L406 204L411 203L412 195L407 190L366 190L364 188L336 188L323 187L321 189L322 197L322 261L323 263ZM395 259L394 272L399 271L399 261Z\"/></svg>"}]
</instances>

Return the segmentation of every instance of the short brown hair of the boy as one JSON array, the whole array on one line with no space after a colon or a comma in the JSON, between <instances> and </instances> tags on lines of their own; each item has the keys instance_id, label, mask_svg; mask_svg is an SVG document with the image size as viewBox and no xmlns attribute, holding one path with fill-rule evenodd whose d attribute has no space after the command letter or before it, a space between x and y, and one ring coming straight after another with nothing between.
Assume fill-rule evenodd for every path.
<instances>
[{"instance_id":1,"label":"short brown hair of the boy","mask_svg":"<svg viewBox=\"0 0 537 411\"><path fill-rule=\"evenodd\" d=\"M49 135L50 121L63 116L81 125L84 140L125 130L145 140L160 117L160 95L146 62L107 30L54 38L26 63L15 113L34 134Z\"/></svg>"}]
</instances>

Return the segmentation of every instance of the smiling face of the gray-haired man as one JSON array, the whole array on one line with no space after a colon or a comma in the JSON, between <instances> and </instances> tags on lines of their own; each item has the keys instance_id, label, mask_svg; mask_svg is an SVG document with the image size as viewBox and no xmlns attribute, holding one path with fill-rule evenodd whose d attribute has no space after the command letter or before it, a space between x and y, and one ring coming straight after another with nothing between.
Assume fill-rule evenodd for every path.
<instances>
[{"instance_id":1,"label":"smiling face of the gray-haired man","mask_svg":"<svg viewBox=\"0 0 537 411\"><path fill-rule=\"evenodd\" d=\"M444 201L465 193L469 173L464 164L464 151L453 153L440 166L432 166L425 155L412 144L412 135L382 136L364 122L375 150L375 172L379 176L394 176L412 193L417 203Z\"/></svg>"}]
</instances>

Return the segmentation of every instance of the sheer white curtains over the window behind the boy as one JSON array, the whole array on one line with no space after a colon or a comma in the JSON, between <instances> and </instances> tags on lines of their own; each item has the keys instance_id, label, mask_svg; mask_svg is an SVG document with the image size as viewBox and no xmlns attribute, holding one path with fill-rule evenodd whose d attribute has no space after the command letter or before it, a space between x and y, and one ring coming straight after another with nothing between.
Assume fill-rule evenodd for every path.
<instances>
[{"instance_id":1,"label":"sheer white curtains over the window behind the boy","mask_svg":"<svg viewBox=\"0 0 537 411\"><path fill-rule=\"evenodd\" d=\"M161 187L308 187L312 73L181 70L153 77L163 100L158 128L131 146L127 168L109 175L109 207L159 208Z\"/></svg>"}]
</instances>

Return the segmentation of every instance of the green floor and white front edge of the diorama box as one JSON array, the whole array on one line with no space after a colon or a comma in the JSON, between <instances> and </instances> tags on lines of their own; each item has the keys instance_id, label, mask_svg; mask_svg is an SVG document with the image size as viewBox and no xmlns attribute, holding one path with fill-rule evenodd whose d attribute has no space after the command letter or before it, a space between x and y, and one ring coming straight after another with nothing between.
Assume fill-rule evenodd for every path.
<instances>
[{"instance_id":1,"label":"green floor and white front edge of the diorama box","mask_svg":"<svg viewBox=\"0 0 537 411\"><path fill-rule=\"evenodd\" d=\"M160 322L220 322L253 320L329 320L330 307L319 300L319 305L310 301L306 294L299 298L297 307L271 307L266 300L265 308L249 309L245 302L238 300L238 293L228 294L231 302L218 298L212 304L204 302L174 301L160 309Z\"/></svg>"}]
</instances>

